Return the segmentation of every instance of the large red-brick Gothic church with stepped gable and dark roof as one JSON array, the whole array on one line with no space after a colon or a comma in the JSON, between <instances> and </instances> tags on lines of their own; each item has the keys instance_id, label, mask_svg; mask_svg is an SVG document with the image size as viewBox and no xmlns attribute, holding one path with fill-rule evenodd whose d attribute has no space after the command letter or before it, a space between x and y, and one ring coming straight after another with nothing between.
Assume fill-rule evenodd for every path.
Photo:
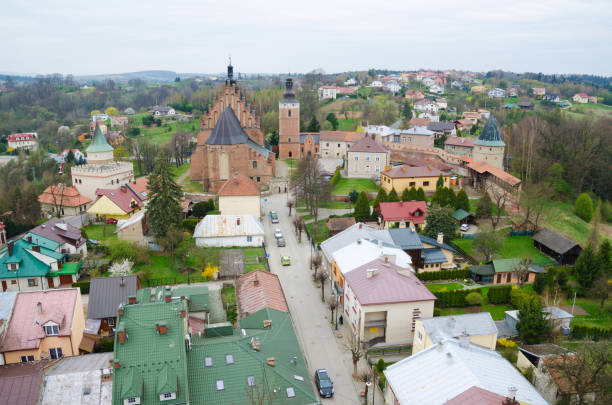
<instances>
[{"instance_id":1,"label":"large red-brick Gothic church with stepped gable and dark roof","mask_svg":"<svg viewBox=\"0 0 612 405\"><path fill-rule=\"evenodd\" d=\"M233 79L233 70L230 64L225 85L200 120L191 156L191 179L201 181L203 189L211 192L217 192L236 172L260 188L274 177L275 155L265 143L261 117Z\"/></svg>"}]
</instances>

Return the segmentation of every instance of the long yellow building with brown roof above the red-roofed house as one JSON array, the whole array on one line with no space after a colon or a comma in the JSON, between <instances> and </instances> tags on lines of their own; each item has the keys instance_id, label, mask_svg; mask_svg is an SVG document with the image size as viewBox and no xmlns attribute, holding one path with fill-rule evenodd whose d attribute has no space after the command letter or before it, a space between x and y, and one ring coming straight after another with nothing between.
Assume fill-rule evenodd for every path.
<instances>
[{"instance_id":1,"label":"long yellow building with brown roof above the red-roofed house","mask_svg":"<svg viewBox=\"0 0 612 405\"><path fill-rule=\"evenodd\" d=\"M401 194L405 188L411 188L412 186L417 190L421 187L425 192L433 193L436 191L436 184L440 174L442 174L442 172L433 166L396 166L387 168L387 170L380 174L380 185L387 193L394 188L398 195ZM444 187L448 187L450 184L450 176L448 174L442 174L442 177L444 178Z\"/></svg>"}]
</instances>

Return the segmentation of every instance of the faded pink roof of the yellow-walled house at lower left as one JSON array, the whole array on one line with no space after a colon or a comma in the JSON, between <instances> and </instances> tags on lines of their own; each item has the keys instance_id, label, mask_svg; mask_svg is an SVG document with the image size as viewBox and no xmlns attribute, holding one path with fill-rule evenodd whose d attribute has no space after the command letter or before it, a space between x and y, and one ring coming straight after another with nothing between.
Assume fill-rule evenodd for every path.
<instances>
[{"instance_id":1,"label":"faded pink roof of the yellow-walled house at lower left","mask_svg":"<svg viewBox=\"0 0 612 405\"><path fill-rule=\"evenodd\" d=\"M38 348L41 339L46 337L43 325L49 321L59 325L59 336L70 336L76 298L76 288L17 294L2 352ZM38 303L41 313L38 313Z\"/></svg>"}]
</instances>

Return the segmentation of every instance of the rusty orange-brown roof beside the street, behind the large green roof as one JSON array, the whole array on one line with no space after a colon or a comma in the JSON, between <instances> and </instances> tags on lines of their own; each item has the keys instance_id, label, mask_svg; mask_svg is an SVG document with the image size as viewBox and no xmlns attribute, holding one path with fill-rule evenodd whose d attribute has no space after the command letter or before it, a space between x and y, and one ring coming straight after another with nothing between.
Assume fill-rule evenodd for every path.
<instances>
[{"instance_id":1,"label":"rusty orange-brown roof beside the street, behind the large green roof","mask_svg":"<svg viewBox=\"0 0 612 405\"><path fill-rule=\"evenodd\" d=\"M261 270L238 277L236 300L238 301L238 319L264 308L289 312L278 276Z\"/></svg>"}]
</instances>

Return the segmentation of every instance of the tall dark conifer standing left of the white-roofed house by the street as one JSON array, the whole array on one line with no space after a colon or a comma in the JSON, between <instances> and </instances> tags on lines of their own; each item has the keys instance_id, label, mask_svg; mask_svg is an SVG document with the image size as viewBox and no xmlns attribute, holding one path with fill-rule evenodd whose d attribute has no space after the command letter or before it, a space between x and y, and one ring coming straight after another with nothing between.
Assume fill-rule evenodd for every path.
<instances>
[{"instance_id":1,"label":"tall dark conifer standing left of the white-roofed house by the street","mask_svg":"<svg viewBox=\"0 0 612 405\"><path fill-rule=\"evenodd\" d=\"M177 229L181 227L182 197L183 191L174 181L168 158L162 153L157 157L155 168L149 175L148 219L156 237L165 236L172 226Z\"/></svg>"}]
</instances>

